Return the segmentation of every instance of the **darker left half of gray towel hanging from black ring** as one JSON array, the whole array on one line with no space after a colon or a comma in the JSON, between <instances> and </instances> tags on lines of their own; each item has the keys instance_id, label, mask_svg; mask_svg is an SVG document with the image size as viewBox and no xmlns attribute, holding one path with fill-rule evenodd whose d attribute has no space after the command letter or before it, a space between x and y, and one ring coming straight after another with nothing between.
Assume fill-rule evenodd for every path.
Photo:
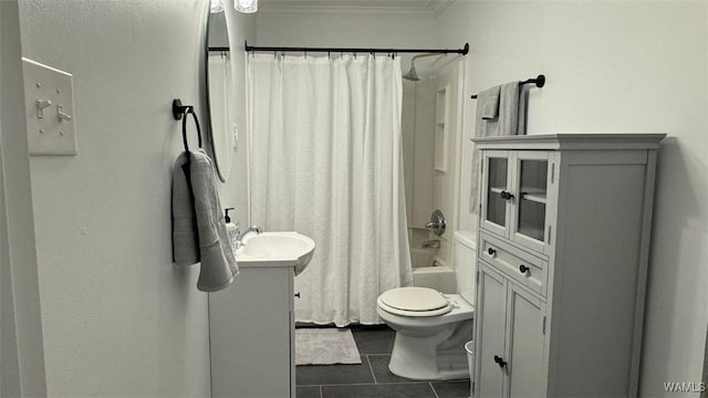
<instances>
[{"instance_id":1,"label":"darker left half of gray towel hanging from black ring","mask_svg":"<svg viewBox=\"0 0 708 398\"><path fill-rule=\"evenodd\" d=\"M173 261L179 265L199 262L199 238L189 176L184 169L187 154L175 160L173 168Z\"/></svg>"}]
</instances>

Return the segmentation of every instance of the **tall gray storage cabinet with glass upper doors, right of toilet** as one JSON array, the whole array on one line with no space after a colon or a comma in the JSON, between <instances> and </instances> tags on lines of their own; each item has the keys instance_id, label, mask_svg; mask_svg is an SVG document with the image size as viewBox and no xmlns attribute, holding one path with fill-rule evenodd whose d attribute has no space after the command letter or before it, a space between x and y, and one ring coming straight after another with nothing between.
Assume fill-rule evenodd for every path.
<instances>
[{"instance_id":1,"label":"tall gray storage cabinet with glass upper doors, right of toilet","mask_svg":"<svg viewBox=\"0 0 708 398\"><path fill-rule=\"evenodd\" d=\"M637 395L664 137L473 138L475 397Z\"/></svg>"}]
</instances>

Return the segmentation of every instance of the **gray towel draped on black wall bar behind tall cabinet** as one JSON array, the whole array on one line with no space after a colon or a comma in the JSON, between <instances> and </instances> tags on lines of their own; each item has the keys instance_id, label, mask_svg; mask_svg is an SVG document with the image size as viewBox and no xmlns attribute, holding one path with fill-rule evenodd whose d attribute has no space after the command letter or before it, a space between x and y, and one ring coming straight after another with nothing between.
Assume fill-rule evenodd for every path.
<instances>
[{"instance_id":1,"label":"gray towel draped on black wall bar behind tall cabinet","mask_svg":"<svg viewBox=\"0 0 708 398\"><path fill-rule=\"evenodd\" d=\"M475 124L476 137L525 135L525 111L528 93L520 95L522 88L519 82L511 82L494 86L477 95L477 121ZM490 104L494 96L499 101L499 113L496 118L488 118ZM470 179L469 211L479 211L478 174L481 159L477 147L472 150L472 175Z\"/></svg>"}]
</instances>

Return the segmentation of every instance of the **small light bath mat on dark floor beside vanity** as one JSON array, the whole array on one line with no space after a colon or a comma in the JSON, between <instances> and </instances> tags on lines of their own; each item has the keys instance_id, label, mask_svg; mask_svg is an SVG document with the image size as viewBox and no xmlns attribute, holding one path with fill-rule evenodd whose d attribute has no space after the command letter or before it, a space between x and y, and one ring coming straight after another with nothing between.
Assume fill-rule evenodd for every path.
<instances>
[{"instance_id":1,"label":"small light bath mat on dark floor beside vanity","mask_svg":"<svg viewBox=\"0 0 708 398\"><path fill-rule=\"evenodd\" d=\"M295 329L295 365L361 364L350 329Z\"/></svg>"}]
</instances>

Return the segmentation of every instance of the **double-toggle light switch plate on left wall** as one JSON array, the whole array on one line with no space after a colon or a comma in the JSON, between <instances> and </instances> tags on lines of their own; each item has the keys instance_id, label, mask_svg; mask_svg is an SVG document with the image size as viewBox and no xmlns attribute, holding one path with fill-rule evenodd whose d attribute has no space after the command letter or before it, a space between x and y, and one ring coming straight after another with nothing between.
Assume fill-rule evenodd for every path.
<instances>
[{"instance_id":1,"label":"double-toggle light switch plate on left wall","mask_svg":"<svg viewBox=\"0 0 708 398\"><path fill-rule=\"evenodd\" d=\"M77 154L71 73L22 57L30 155Z\"/></svg>"}]
</instances>

